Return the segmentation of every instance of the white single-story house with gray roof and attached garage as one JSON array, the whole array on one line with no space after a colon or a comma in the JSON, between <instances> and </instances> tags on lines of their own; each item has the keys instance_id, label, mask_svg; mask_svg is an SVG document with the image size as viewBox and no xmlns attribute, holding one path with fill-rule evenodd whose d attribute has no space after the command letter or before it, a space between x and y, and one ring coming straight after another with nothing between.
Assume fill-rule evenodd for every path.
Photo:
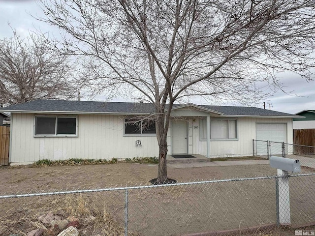
<instances>
[{"instance_id":1,"label":"white single-story house with gray roof and attached garage","mask_svg":"<svg viewBox=\"0 0 315 236\"><path fill-rule=\"evenodd\" d=\"M155 123L129 122L154 114L152 104L36 100L2 111L11 112L11 164L158 156ZM171 117L168 154L207 157L251 156L252 139L293 143L292 119L299 118L254 107L194 104L174 105Z\"/></svg>"}]
</instances>

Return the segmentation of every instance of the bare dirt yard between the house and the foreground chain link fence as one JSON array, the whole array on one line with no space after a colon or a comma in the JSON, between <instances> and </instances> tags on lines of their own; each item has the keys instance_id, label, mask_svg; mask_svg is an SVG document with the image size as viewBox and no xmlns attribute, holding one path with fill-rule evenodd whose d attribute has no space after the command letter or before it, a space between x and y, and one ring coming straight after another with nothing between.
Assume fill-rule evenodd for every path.
<instances>
[{"instance_id":1,"label":"bare dirt yard between the house and the foreground chain link fence","mask_svg":"<svg viewBox=\"0 0 315 236\"><path fill-rule=\"evenodd\" d=\"M149 185L149 180L157 177L157 173L157 164L138 163L46 167L2 166L0 168L0 194ZM276 173L276 170L270 168L269 165L168 168L168 177L178 182L270 176Z\"/></svg>"}]
</instances>

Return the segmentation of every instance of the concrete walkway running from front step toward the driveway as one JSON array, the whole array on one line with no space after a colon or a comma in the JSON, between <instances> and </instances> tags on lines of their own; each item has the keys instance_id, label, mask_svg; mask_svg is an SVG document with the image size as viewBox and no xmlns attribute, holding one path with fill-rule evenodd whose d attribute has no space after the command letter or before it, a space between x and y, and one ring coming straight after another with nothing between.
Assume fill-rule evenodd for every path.
<instances>
[{"instance_id":1,"label":"concrete walkway running from front step toward the driveway","mask_svg":"<svg viewBox=\"0 0 315 236\"><path fill-rule=\"evenodd\" d=\"M243 165L269 165L269 160L244 160L244 161L206 161L192 163L169 163L167 167L174 169L179 168L194 168L206 166L243 166Z\"/></svg>"}]
</instances>

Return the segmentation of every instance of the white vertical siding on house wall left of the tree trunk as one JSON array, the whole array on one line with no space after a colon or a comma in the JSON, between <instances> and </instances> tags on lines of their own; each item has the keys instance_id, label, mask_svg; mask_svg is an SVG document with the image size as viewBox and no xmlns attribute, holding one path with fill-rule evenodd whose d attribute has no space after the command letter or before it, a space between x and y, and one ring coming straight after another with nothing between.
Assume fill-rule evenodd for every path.
<instances>
[{"instance_id":1,"label":"white vertical siding on house wall left of the tree trunk","mask_svg":"<svg viewBox=\"0 0 315 236\"><path fill-rule=\"evenodd\" d=\"M158 156L156 136L124 137L119 116L78 115L78 137L33 137L35 114L12 113L11 163ZM135 147L141 140L142 147Z\"/></svg>"}]
</instances>

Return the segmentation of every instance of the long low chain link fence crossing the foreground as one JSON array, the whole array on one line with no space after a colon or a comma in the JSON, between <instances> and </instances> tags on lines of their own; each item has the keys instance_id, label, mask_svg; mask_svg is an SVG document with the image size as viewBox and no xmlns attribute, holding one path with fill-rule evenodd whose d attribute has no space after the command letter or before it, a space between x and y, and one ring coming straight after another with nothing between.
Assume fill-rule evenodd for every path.
<instances>
[{"instance_id":1,"label":"long low chain link fence crossing the foreground","mask_svg":"<svg viewBox=\"0 0 315 236\"><path fill-rule=\"evenodd\" d=\"M0 235L168 236L315 224L315 173L0 196ZM34 236L35 234L33 234Z\"/></svg>"}]
</instances>

